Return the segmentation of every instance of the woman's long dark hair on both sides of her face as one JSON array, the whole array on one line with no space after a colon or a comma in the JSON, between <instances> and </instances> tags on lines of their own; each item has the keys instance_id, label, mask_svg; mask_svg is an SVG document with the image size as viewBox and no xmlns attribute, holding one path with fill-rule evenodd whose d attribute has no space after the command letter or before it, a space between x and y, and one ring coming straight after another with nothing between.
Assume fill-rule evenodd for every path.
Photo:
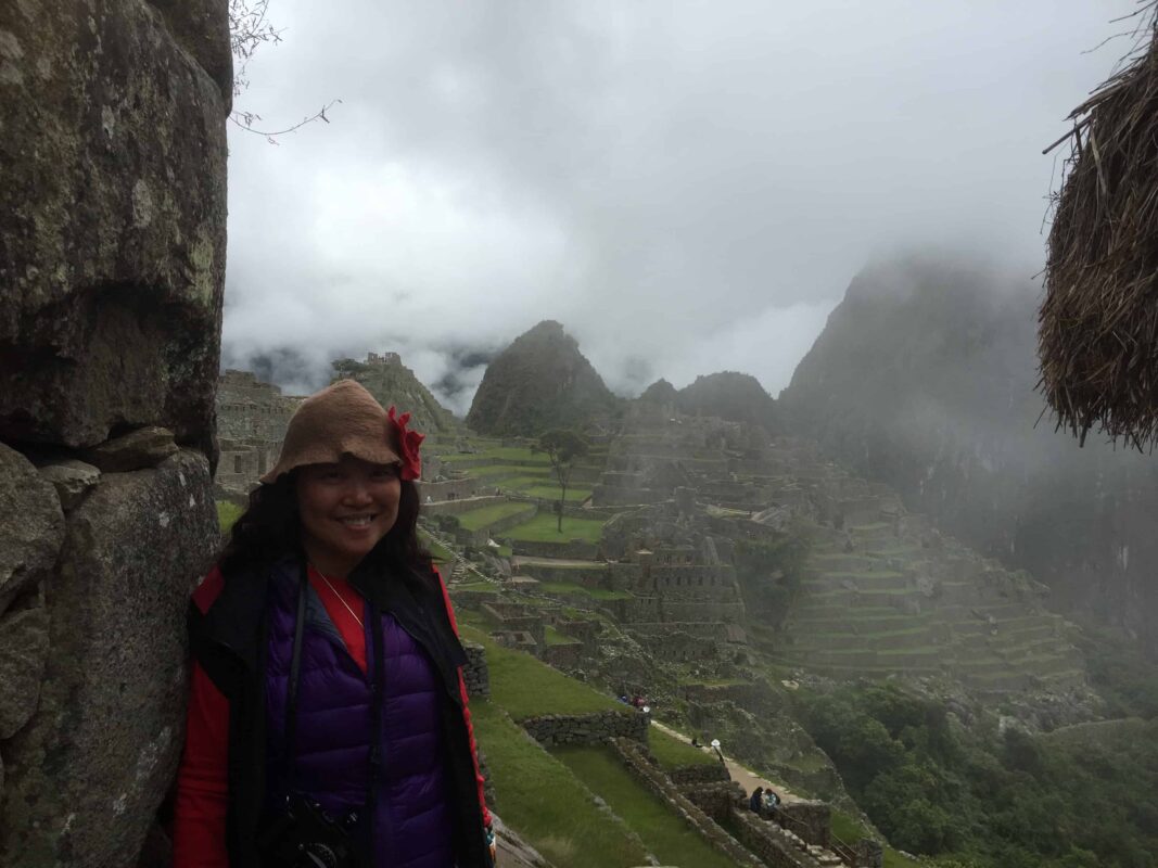
<instances>
[{"instance_id":1,"label":"woman's long dark hair on both sides of her face","mask_svg":"<svg viewBox=\"0 0 1158 868\"><path fill-rule=\"evenodd\" d=\"M264 569L287 554L302 553L296 476L293 470L249 493L249 506L234 522L218 559L222 573ZM382 569L425 575L431 556L418 542L418 487L403 479L398 517L367 560Z\"/></svg>"}]
</instances>

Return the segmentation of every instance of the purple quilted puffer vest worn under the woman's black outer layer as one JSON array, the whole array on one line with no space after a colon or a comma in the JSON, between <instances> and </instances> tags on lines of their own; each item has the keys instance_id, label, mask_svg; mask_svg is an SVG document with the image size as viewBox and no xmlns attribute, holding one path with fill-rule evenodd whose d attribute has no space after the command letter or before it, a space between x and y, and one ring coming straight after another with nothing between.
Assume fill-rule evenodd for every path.
<instances>
[{"instance_id":1,"label":"purple quilted puffer vest worn under the woman's black outer layer","mask_svg":"<svg viewBox=\"0 0 1158 868\"><path fill-rule=\"evenodd\" d=\"M298 611L296 567L274 571L265 694L269 806L285 796L283 751L290 663ZM369 672L350 656L325 606L308 589L298 693L298 762L294 788L331 815L362 812L369 777L373 640L366 624ZM369 608L366 608L369 616ZM375 868L453 868L453 811L441 728L447 701L426 653L393 616L380 630L386 663L382 766L373 818ZM365 819L362 821L365 824ZM367 830L360 830L365 834Z\"/></svg>"}]
</instances>

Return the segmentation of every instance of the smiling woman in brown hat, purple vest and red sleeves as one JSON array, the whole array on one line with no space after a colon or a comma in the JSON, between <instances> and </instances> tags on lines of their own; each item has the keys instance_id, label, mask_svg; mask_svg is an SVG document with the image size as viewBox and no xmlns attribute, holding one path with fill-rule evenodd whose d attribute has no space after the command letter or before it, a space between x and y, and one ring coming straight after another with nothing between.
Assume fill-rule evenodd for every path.
<instances>
[{"instance_id":1,"label":"smiling woman in brown hat, purple vest and red sleeves","mask_svg":"<svg viewBox=\"0 0 1158 868\"><path fill-rule=\"evenodd\" d=\"M195 593L176 868L493 865L408 420L350 380L302 402Z\"/></svg>"}]
</instances>

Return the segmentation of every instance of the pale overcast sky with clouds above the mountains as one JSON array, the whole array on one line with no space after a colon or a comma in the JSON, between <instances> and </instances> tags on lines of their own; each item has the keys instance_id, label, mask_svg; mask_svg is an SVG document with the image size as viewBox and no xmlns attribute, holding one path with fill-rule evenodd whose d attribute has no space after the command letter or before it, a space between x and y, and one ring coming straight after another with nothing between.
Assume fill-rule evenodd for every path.
<instances>
[{"instance_id":1,"label":"pale overcast sky with clouds above the mountains","mask_svg":"<svg viewBox=\"0 0 1158 868\"><path fill-rule=\"evenodd\" d=\"M223 363L308 391L395 350L464 412L463 365L554 318L621 393L775 395L873 259L1041 267L1041 149L1134 8L272 0L237 108L342 104L278 146L230 130Z\"/></svg>"}]
</instances>

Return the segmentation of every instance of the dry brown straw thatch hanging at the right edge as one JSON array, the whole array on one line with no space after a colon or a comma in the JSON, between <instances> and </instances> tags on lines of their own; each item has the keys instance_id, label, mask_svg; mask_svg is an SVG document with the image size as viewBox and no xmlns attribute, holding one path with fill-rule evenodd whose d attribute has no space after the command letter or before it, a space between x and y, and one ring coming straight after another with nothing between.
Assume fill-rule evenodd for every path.
<instances>
[{"instance_id":1,"label":"dry brown straw thatch hanging at the right edge","mask_svg":"<svg viewBox=\"0 0 1158 868\"><path fill-rule=\"evenodd\" d=\"M1135 51L1070 119L1039 316L1040 388L1083 442L1158 443L1158 0Z\"/></svg>"}]
</instances>

